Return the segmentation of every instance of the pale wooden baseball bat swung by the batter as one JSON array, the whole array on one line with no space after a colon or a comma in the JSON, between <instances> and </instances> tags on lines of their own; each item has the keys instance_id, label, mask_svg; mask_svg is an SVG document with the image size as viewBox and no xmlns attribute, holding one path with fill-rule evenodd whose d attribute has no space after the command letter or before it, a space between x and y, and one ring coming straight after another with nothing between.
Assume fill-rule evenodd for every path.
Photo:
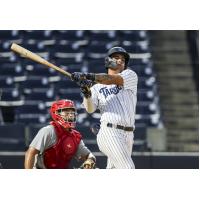
<instances>
[{"instance_id":1,"label":"pale wooden baseball bat swung by the batter","mask_svg":"<svg viewBox=\"0 0 200 200\"><path fill-rule=\"evenodd\" d=\"M50 68L53 68L55 69L56 71L64 74L65 76L71 78L71 74L63 69L61 69L60 67L57 67L56 65L48 62L47 60L45 60L44 58L40 57L39 55L21 47L20 45L16 44L16 43L13 43L11 45L11 50L24 56L25 58L29 58L35 62L38 62L42 65L46 65L47 67L50 67Z\"/></svg>"}]
</instances>

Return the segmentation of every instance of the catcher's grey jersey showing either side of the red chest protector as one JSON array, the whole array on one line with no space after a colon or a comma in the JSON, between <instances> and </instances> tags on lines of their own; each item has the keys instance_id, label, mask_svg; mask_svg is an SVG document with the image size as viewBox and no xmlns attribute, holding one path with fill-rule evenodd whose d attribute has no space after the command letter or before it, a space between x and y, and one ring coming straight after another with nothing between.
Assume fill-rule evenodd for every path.
<instances>
[{"instance_id":1,"label":"catcher's grey jersey showing either side of the red chest protector","mask_svg":"<svg viewBox=\"0 0 200 200\"><path fill-rule=\"evenodd\" d=\"M30 147L34 147L40 151L35 163L37 167L45 168L42 154L46 149L53 146L56 143L56 140L57 136L52 125L45 126L39 130L30 144ZM80 156L86 156L89 153L91 153L90 150L85 146L83 140L81 140L78 146L78 150L74 156L79 158Z\"/></svg>"}]
</instances>

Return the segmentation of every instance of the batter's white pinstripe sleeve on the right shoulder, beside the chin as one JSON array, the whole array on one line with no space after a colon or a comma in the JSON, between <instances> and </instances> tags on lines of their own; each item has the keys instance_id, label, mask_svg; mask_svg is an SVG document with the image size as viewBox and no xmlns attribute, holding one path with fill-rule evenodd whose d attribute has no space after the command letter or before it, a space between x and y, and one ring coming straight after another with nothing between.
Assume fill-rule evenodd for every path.
<instances>
[{"instance_id":1,"label":"batter's white pinstripe sleeve on the right shoulder, beside the chin","mask_svg":"<svg viewBox=\"0 0 200 200\"><path fill-rule=\"evenodd\" d=\"M125 90L133 90L133 91L137 91L137 84L138 84L138 76L137 74L130 70L124 70L122 73L120 73L119 75L121 75L121 77L124 80L124 89Z\"/></svg>"}]
</instances>

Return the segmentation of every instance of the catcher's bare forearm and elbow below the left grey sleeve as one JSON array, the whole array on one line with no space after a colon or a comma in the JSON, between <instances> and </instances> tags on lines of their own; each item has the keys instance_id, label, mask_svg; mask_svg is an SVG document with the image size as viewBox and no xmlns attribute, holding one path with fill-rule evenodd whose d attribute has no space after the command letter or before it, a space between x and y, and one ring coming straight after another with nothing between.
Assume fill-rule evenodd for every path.
<instances>
[{"instance_id":1,"label":"catcher's bare forearm and elbow below the left grey sleeve","mask_svg":"<svg viewBox=\"0 0 200 200\"><path fill-rule=\"evenodd\" d=\"M25 153L25 161L24 168L25 169L33 169L33 165L35 162L35 156L39 153L39 151L33 147L29 147L29 149Z\"/></svg>"}]
</instances>

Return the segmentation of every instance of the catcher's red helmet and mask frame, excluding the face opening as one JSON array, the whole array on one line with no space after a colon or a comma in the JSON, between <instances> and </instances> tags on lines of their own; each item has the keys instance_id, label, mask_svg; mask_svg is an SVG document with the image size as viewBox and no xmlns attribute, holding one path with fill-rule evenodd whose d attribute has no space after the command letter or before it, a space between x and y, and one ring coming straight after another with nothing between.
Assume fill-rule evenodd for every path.
<instances>
[{"instance_id":1,"label":"catcher's red helmet and mask frame, excluding the face opening","mask_svg":"<svg viewBox=\"0 0 200 200\"><path fill-rule=\"evenodd\" d=\"M74 120L69 121L63 119L63 117L59 114L59 111L62 111L63 109L71 108L74 109ZM54 121L58 122L62 127L64 128L75 128L76 126L76 108L74 105L74 102L68 99L55 101L51 108L50 108L50 114Z\"/></svg>"}]
</instances>

